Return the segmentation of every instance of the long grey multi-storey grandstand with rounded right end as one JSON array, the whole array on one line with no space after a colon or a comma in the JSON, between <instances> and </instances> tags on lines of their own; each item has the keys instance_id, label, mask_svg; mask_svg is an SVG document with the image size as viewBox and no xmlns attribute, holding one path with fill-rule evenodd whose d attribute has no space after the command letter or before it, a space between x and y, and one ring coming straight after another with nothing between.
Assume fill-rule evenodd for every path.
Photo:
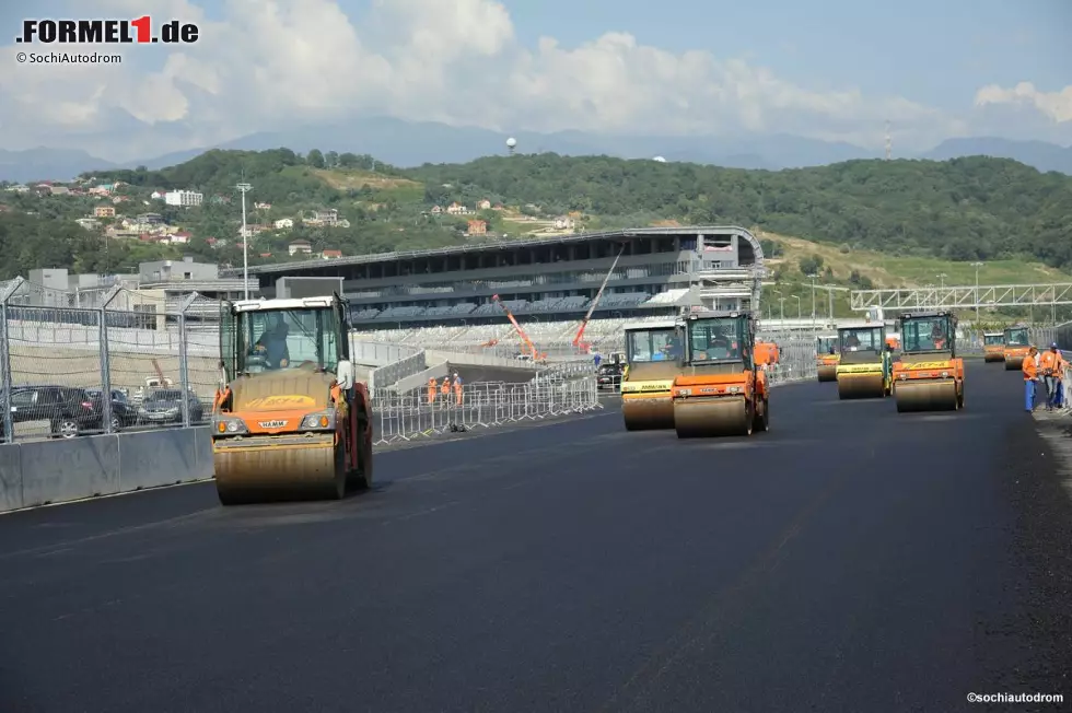
<instances>
[{"instance_id":1,"label":"long grey multi-storey grandstand with rounded right end","mask_svg":"<svg viewBox=\"0 0 1072 713\"><path fill-rule=\"evenodd\" d=\"M271 297L282 277L342 278L357 329L502 323L498 294L518 317L580 319L619 256L595 317L748 309L764 277L759 241L736 226L644 227L480 243L249 268ZM231 270L241 277L241 270Z\"/></svg>"}]
</instances>

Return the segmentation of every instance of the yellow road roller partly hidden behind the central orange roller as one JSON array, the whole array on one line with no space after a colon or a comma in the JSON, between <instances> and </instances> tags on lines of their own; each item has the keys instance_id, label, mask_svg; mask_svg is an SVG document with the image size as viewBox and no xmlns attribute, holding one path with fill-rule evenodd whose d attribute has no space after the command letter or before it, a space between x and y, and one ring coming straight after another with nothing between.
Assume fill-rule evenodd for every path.
<instances>
[{"instance_id":1,"label":"yellow road roller partly hidden behind the central orange roller","mask_svg":"<svg viewBox=\"0 0 1072 713\"><path fill-rule=\"evenodd\" d=\"M674 428L671 391L681 371L684 325L679 319L627 324L621 416L628 431Z\"/></svg>"}]
</instances>

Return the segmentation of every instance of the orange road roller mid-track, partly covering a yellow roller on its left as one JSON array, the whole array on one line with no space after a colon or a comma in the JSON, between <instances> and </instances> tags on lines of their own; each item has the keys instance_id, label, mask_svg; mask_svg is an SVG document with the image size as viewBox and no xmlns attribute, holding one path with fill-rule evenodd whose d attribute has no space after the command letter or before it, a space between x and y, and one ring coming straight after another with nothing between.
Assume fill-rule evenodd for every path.
<instances>
[{"instance_id":1,"label":"orange road roller mid-track, partly covering a yellow roller on its left","mask_svg":"<svg viewBox=\"0 0 1072 713\"><path fill-rule=\"evenodd\" d=\"M756 322L738 312L685 319L685 365L674 379L679 439L751 435L770 428L767 374L755 363Z\"/></svg>"}]
</instances>

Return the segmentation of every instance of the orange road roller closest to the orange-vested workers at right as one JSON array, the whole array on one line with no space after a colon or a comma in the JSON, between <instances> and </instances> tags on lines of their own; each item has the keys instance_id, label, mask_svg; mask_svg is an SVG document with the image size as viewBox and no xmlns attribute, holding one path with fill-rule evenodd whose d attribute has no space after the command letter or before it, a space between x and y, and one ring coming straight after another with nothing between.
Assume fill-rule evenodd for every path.
<instances>
[{"instance_id":1,"label":"orange road roller closest to the orange-vested workers at right","mask_svg":"<svg viewBox=\"0 0 1072 713\"><path fill-rule=\"evenodd\" d=\"M902 351L894 363L898 411L964 408L964 360L956 355L956 316L918 312L901 317Z\"/></svg>"}]
</instances>

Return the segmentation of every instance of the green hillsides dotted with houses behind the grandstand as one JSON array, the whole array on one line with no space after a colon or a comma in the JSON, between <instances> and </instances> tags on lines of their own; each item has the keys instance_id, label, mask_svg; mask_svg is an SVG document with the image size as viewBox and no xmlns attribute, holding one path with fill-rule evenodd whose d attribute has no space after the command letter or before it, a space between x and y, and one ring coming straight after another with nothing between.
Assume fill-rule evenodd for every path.
<instances>
[{"instance_id":1,"label":"green hillsides dotted with houses behind the grandstand","mask_svg":"<svg viewBox=\"0 0 1072 713\"><path fill-rule=\"evenodd\" d=\"M852 161L766 172L540 154L399 170L372 156L333 152L209 151L162 171L83 176L82 187L114 182L127 202L117 203L120 214L102 221L97 232L73 221L108 204L100 198L0 195L0 277L35 267L124 271L139 260L182 254L241 262L235 244L242 211L234 188L240 182L254 187L248 222L267 226L253 239L254 264L290 259L287 244L298 238L312 243L314 252L345 255L483 239L466 236L473 218L508 239L561 234L551 219L570 213L578 230L676 222L769 233L791 253L791 259L772 265L782 280L799 278L792 266L813 254L825 256L830 268L824 279L858 285L924 284L942 273L951 283L963 282L966 274L974 277L975 260L986 261L993 280L1002 282L1067 279L1062 273L1072 269L1072 177L986 157ZM153 191L173 189L202 192L205 203L175 208L149 199ZM501 210L476 211L483 200ZM434 210L452 202L475 212L454 217ZM346 226L303 224L303 217L328 209L338 211ZM144 211L160 212L174 230L191 233L190 243L103 238L112 222ZM293 229L275 226L287 219ZM26 235L34 236L32 245L21 239ZM998 265L1004 268L995 271Z\"/></svg>"}]
</instances>

